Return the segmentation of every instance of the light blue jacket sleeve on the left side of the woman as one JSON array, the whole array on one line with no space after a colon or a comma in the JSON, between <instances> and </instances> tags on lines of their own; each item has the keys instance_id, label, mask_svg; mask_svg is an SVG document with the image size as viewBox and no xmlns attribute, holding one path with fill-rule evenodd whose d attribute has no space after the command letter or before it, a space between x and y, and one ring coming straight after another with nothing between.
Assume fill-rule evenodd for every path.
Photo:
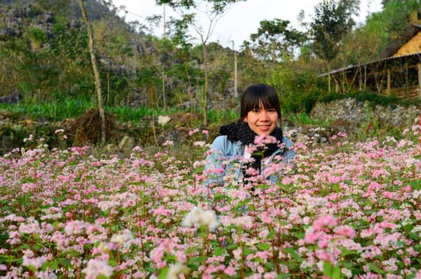
<instances>
[{"instance_id":1,"label":"light blue jacket sleeve on the left side of the woman","mask_svg":"<svg viewBox=\"0 0 421 279\"><path fill-rule=\"evenodd\" d=\"M227 156L227 136L217 137L212 144L212 153L206 156L206 165L204 168L203 185L223 184L225 175L225 165L222 161Z\"/></svg>"}]
</instances>

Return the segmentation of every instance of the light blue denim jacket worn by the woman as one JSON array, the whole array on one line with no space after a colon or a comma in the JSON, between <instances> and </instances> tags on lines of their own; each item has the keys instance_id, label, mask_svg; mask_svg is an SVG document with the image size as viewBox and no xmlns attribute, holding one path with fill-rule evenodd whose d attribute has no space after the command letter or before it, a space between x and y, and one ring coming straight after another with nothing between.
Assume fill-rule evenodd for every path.
<instances>
[{"instance_id":1,"label":"light blue denim jacket worn by the woman","mask_svg":"<svg viewBox=\"0 0 421 279\"><path fill-rule=\"evenodd\" d=\"M274 151L271 156L267 159L265 158L267 164L272 163L276 155L282 155L283 163L292 163L295 151L290 150L290 147L293 147L293 142L287 137L283 137L282 142L285 143L284 151L281 152L281 149ZM213 141L212 149L214 150L213 153L206 157L207 163L204 170L206 179L203 180L203 184L206 186L212 183L224 184L223 177L226 175L234 175L236 182L241 181L243 179L243 172L241 172L242 164L239 162L239 158L244 155L243 144L240 141L231 142L226 135L220 135ZM264 172L263 165L260 170L261 174ZM271 182L278 180L277 175L271 175L265 178Z\"/></svg>"}]
</instances>

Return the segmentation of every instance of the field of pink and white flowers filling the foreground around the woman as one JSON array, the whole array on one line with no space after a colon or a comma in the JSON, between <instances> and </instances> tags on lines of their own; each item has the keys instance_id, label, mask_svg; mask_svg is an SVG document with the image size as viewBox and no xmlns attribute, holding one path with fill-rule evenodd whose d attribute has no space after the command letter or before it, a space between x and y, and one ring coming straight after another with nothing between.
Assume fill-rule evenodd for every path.
<instances>
[{"instance_id":1,"label":"field of pink and white flowers filling the foreground around the woman","mask_svg":"<svg viewBox=\"0 0 421 279\"><path fill-rule=\"evenodd\" d=\"M211 188L204 142L180 158L171 142L128 158L15 149L0 158L0 278L421 278L419 128L295 143L294 165L269 168L278 184Z\"/></svg>"}]
</instances>

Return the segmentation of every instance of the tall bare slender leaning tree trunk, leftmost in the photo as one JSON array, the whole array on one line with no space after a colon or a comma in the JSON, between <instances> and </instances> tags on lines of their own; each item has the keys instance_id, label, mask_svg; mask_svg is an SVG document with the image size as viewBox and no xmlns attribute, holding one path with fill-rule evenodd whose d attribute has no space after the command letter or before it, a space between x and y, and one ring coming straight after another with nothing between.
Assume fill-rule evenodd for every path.
<instances>
[{"instance_id":1,"label":"tall bare slender leaning tree trunk, leftmost in the photo","mask_svg":"<svg viewBox=\"0 0 421 279\"><path fill-rule=\"evenodd\" d=\"M91 63L93 74L95 75L95 89L98 97L98 110L100 111L100 118L101 118L101 142L102 144L105 143L105 111L104 111L104 104L102 102L102 89L101 89L101 79L100 79L100 72L98 71L98 67L96 64L95 58L95 48L93 46L93 32L91 24L88 20L88 15L86 14L85 4L83 4L83 0L79 0L79 4L81 6L82 17L86 24L86 30L88 31L89 36L89 53L91 53Z\"/></svg>"}]
</instances>

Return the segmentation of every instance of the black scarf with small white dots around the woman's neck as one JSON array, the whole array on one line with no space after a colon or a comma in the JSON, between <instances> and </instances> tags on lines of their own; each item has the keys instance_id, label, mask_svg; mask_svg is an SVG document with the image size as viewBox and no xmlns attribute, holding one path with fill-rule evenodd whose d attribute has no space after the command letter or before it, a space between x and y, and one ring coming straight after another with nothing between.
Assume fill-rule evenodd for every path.
<instances>
[{"instance_id":1,"label":"black scarf with small white dots around the woman's neck","mask_svg":"<svg viewBox=\"0 0 421 279\"><path fill-rule=\"evenodd\" d=\"M254 144L255 137L257 136L257 134L250 129L248 124L241 119L237 122L222 126L220 128L220 135L226 135L228 140L231 142L241 141L243 146ZM283 136L281 128L276 127L275 130L270 133L270 135L272 137L276 137L276 140L278 140L279 143L282 142ZM259 151L262 151L263 158L271 156L274 151L276 151L276 149L279 149L278 144L267 144L266 147L267 149L259 149ZM254 161L248 163L247 168L251 167L260 172L262 156L260 154L254 153L251 155L251 157L254 159ZM243 175L246 178L250 177L250 175L246 175L246 169L243 169Z\"/></svg>"}]
</instances>

